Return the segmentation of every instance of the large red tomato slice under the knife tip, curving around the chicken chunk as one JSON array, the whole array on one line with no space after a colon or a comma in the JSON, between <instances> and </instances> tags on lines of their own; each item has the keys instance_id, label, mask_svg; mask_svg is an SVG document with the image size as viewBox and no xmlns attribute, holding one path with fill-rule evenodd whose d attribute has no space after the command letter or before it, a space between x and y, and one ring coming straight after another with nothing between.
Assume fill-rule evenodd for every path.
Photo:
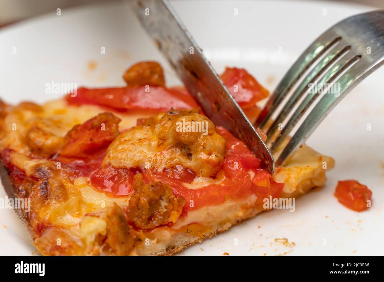
<instances>
[{"instance_id":1,"label":"large red tomato slice under the knife tip, curving around the chicken chunk","mask_svg":"<svg viewBox=\"0 0 384 282\"><path fill-rule=\"evenodd\" d=\"M280 197L284 184L273 181L271 175L260 168L260 160L228 130L217 127L217 132L226 140L227 153L222 168L212 178L200 176L191 183L190 178L177 179L166 171L151 169L143 171L144 177L147 181L170 185L176 196L184 197L189 203L184 206L185 211L221 204L228 199L244 199L252 194L257 195L257 204L262 207L264 198ZM203 182L197 181L200 179Z\"/></svg>"}]
</instances>

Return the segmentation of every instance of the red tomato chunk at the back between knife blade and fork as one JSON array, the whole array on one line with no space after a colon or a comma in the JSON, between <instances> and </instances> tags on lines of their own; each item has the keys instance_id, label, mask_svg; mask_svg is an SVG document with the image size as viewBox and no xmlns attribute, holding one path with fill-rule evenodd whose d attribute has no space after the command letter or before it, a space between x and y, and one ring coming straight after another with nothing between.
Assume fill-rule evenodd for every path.
<instances>
[{"instance_id":1,"label":"red tomato chunk at the back between knife blade and fork","mask_svg":"<svg viewBox=\"0 0 384 282\"><path fill-rule=\"evenodd\" d=\"M268 97L268 90L245 69L225 68L220 78L243 109L255 106L257 101Z\"/></svg>"}]
</instances>

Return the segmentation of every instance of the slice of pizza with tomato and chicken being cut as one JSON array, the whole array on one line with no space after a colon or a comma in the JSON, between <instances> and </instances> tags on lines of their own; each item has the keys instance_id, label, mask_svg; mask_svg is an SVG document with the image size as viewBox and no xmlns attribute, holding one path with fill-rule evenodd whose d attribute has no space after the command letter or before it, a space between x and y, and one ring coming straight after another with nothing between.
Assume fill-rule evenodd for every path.
<instances>
[{"instance_id":1,"label":"slice of pizza with tomato and chicken being cut","mask_svg":"<svg viewBox=\"0 0 384 282\"><path fill-rule=\"evenodd\" d=\"M268 92L244 69L222 80L250 119ZM2 183L44 255L169 255L326 181L333 159L303 145L270 175L159 64L126 87L81 88L39 106L0 104Z\"/></svg>"}]
</instances>

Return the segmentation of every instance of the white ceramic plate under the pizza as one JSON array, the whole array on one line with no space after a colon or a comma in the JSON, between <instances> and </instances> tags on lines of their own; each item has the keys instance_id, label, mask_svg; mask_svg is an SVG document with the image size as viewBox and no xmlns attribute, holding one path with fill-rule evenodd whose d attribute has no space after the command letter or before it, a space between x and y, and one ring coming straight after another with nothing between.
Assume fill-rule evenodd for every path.
<instances>
[{"instance_id":1,"label":"white ceramic plate under the pizza","mask_svg":"<svg viewBox=\"0 0 384 282\"><path fill-rule=\"evenodd\" d=\"M328 1L179 1L172 5L219 73L226 65L243 67L270 90L320 33L347 16L372 10ZM167 69L168 84L179 84L127 3L62 9L61 16L52 11L3 28L0 43L0 97L11 103L56 98L44 92L45 83L52 80L89 87L123 85L123 71L140 60L160 61ZM102 46L106 54L101 54ZM96 69L88 68L90 61ZM383 75L384 68L379 69L356 87L308 140L308 145L336 160L322 190L298 199L294 213L260 214L180 254L382 254ZM338 180L346 179L359 180L372 190L371 209L356 213L338 203L334 188ZM0 197L5 196L0 189ZM275 238L288 238L296 246L281 245ZM3 255L30 255L35 250L12 210L0 210L0 246Z\"/></svg>"}]
</instances>

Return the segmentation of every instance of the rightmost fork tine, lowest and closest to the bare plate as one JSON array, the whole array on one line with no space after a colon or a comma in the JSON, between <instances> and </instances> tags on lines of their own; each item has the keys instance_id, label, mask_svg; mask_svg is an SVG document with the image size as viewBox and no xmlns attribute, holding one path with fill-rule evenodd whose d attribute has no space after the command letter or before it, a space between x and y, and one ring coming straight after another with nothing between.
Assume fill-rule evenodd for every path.
<instances>
[{"instance_id":1,"label":"rightmost fork tine, lowest and closest to the bare plate","mask_svg":"<svg viewBox=\"0 0 384 282\"><path fill-rule=\"evenodd\" d=\"M318 127L329 112L364 78L384 64L384 59L371 61L364 56L346 71L335 83L340 85L340 95L324 95L300 125L276 161L282 165L288 161Z\"/></svg>"}]
</instances>

